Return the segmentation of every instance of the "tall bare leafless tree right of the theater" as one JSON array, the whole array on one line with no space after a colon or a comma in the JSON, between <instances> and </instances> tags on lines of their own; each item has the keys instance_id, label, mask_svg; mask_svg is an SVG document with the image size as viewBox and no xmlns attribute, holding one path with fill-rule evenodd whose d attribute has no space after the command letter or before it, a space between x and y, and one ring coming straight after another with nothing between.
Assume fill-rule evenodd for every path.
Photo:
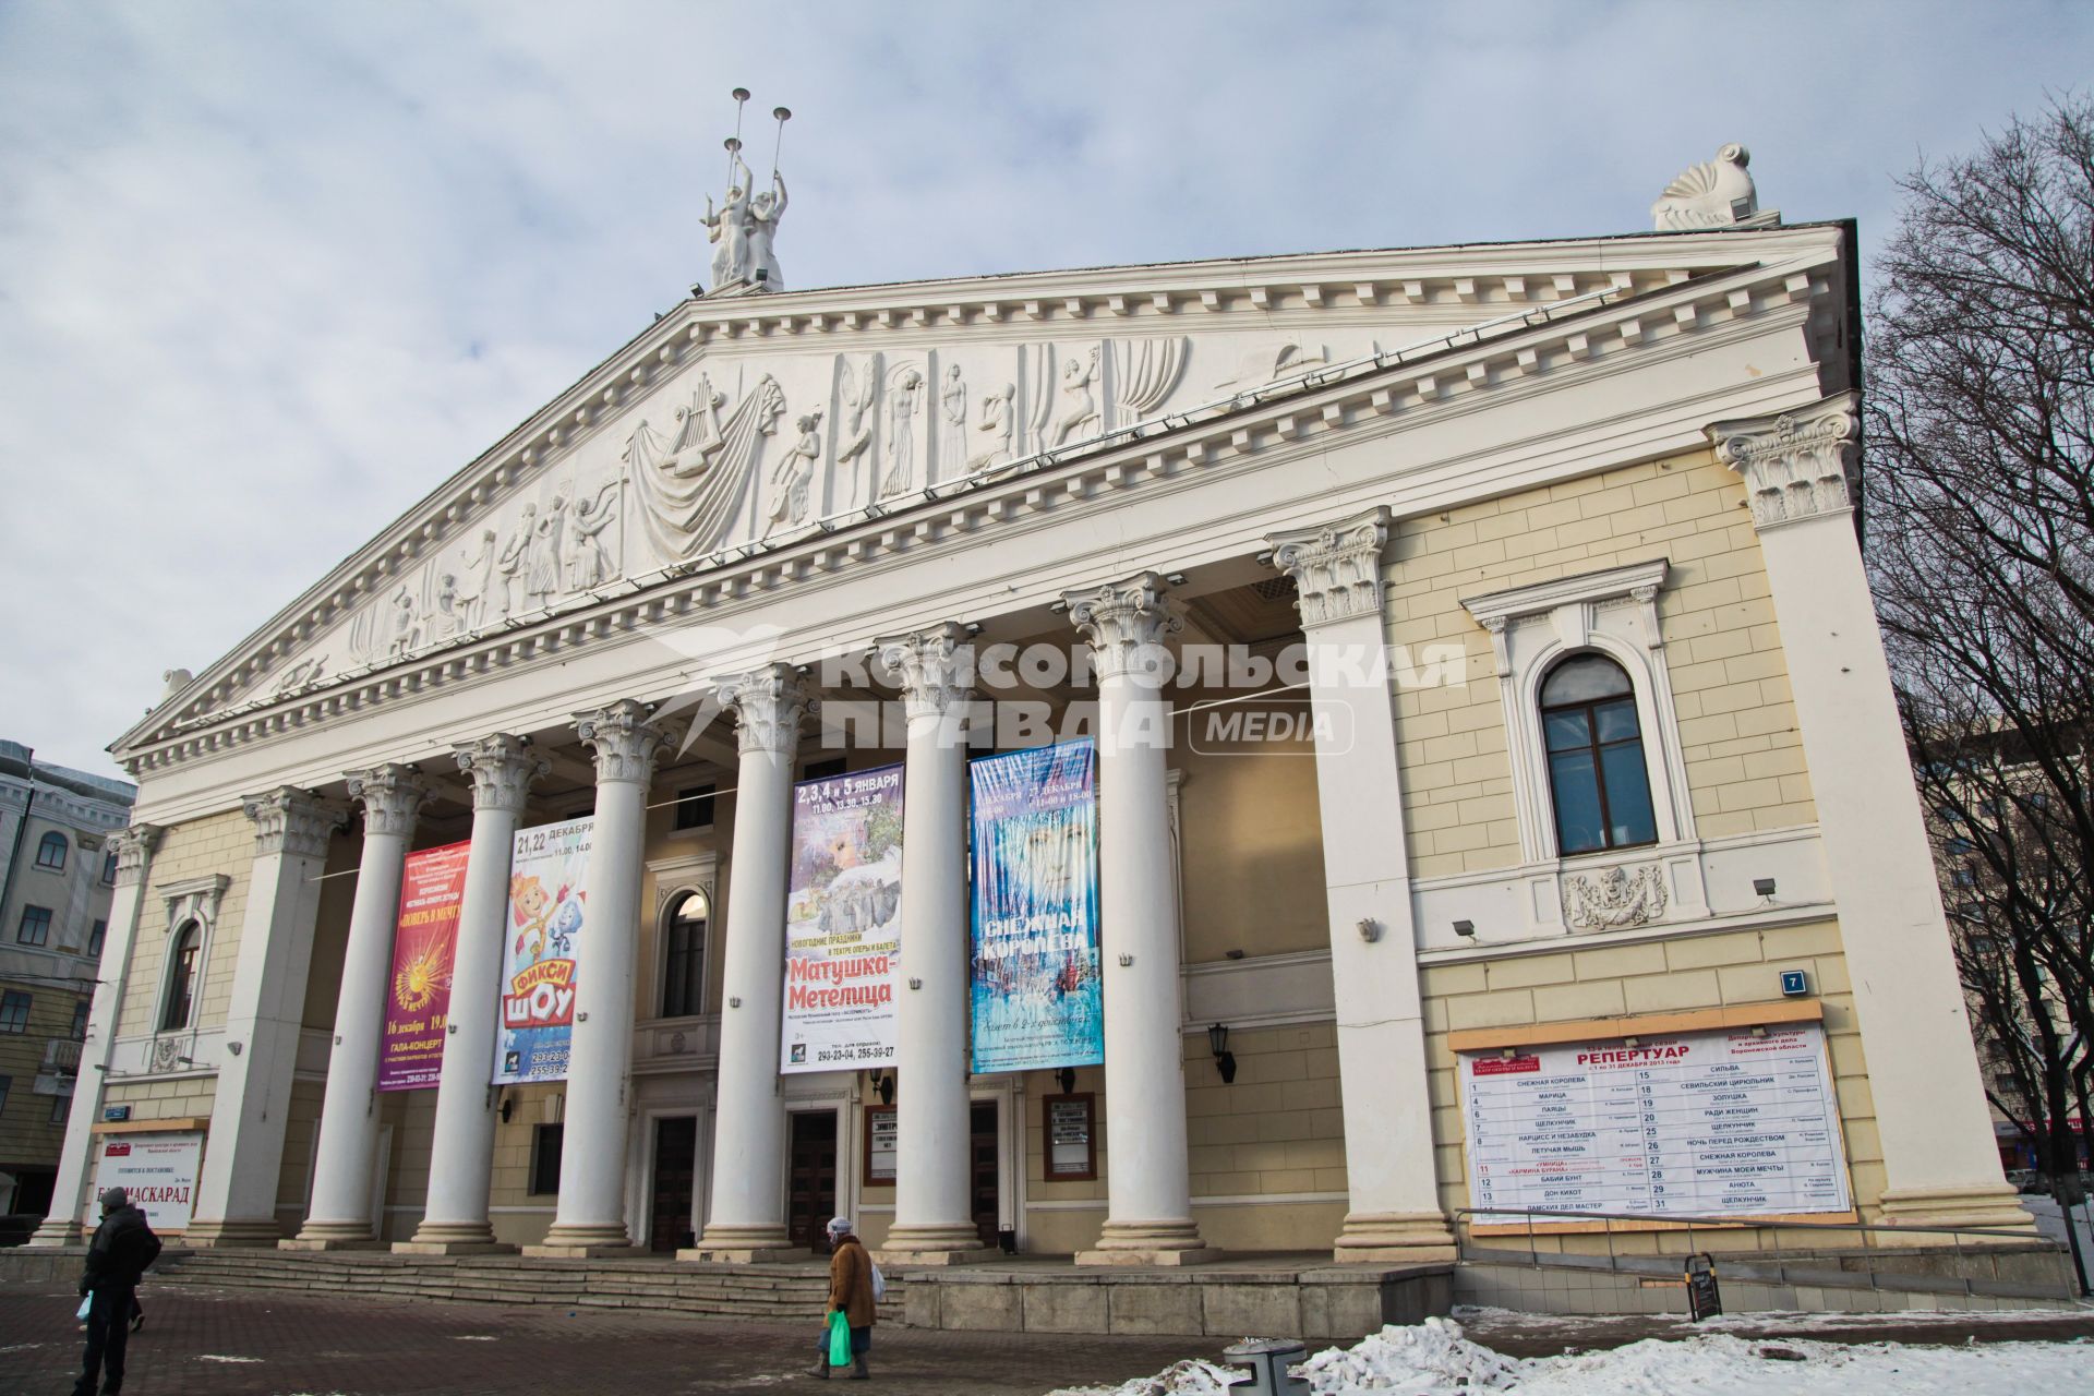
<instances>
[{"instance_id":1,"label":"tall bare leafless tree right of the theater","mask_svg":"<svg viewBox=\"0 0 2094 1396\"><path fill-rule=\"evenodd\" d=\"M2094 1084L2094 100L1901 188L1868 555L1987 1086L2069 1206Z\"/></svg>"}]
</instances>

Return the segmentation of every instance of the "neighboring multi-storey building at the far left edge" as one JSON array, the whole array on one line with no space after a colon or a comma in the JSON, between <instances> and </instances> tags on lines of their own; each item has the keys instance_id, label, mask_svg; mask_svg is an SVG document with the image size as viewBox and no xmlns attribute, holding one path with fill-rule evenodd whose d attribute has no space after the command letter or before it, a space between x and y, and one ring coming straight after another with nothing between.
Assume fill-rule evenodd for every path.
<instances>
[{"instance_id":1,"label":"neighboring multi-storey building at the far left edge","mask_svg":"<svg viewBox=\"0 0 2094 1396\"><path fill-rule=\"evenodd\" d=\"M0 1214L50 1206L136 795L0 741Z\"/></svg>"}]
</instances>

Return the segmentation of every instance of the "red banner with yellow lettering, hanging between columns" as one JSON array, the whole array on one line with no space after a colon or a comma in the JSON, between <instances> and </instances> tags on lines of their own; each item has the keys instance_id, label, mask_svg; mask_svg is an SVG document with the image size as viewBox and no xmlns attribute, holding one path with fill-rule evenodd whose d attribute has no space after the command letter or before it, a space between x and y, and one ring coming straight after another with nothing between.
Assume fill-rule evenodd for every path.
<instances>
[{"instance_id":1,"label":"red banner with yellow lettering, hanging between columns","mask_svg":"<svg viewBox=\"0 0 2094 1396\"><path fill-rule=\"evenodd\" d=\"M419 1090L444 1074L444 1023L450 1021L450 961L459 950L459 902L471 843L423 848L406 856L400 921L394 923L394 973L385 994L379 1090Z\"/></svg>"}]
</instances>

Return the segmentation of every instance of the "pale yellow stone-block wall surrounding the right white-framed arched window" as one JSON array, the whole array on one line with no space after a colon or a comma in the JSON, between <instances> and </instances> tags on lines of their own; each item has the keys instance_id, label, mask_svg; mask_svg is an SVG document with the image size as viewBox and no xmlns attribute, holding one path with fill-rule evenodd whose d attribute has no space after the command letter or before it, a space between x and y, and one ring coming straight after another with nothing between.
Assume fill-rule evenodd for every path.
<instances>
[{"instance_id":1,"label":"pale yellow stone-block wall surrounding the right white-framed arched window","mask_svg":"<svg viewBox=\"0 0 2094 1396\"><path fill-rule=\"evenodd\" d=\"M1744 486L1711 452L1629 465L1395 525L1388 638L1460 645L1466 682L1401 689L1413 877L1520 862L1491 638L1464 596L1671 559L1658 622L1700 837L1815 823Z\"/></svg>"}]
</instances>

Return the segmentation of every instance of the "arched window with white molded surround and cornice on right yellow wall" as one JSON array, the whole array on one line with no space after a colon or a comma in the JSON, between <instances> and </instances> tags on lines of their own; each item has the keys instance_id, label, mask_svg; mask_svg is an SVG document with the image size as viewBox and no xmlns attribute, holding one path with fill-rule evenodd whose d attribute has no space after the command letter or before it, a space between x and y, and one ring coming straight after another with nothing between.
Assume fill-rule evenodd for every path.
<instances>
[{"instance_id":1,"label":"arched window with white molded surround and cornice on right yellow wall","mask_svg":"<svg viewBox=\"0 0 2094 1396\"><path fill-rule=\"evenodd\" d=\"M1491 632L1527 862L1694 837L1667 571L1661 557L1462 601Z\"/></svg>"}]
</instances>

